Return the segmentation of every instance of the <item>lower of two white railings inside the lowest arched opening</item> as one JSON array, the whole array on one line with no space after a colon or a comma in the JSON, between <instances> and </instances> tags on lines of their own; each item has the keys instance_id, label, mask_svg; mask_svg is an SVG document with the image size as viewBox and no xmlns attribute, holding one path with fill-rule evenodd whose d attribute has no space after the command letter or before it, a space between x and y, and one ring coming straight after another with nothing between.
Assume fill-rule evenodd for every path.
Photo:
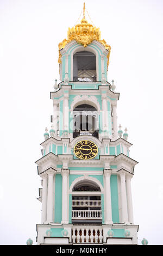
<instances>
[{"instance_id":1,"label":"lower of two white railings inside the lowest arched opening","mask_svg":"<svg viewBox=\"0 0 163 256\"><path fill-rule=\"evenodd\" d=\"M101 210L72 210L72 219L76 220L91 220L91 219L102 219Z\"/></svg>"}]
</instances>

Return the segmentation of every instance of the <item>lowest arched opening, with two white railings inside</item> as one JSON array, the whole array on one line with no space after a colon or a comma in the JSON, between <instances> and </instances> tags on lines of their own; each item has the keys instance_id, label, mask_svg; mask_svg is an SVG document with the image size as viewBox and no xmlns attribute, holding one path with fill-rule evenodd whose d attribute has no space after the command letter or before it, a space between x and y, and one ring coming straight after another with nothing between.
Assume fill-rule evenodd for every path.
<instances>
[{"instance_id":1,"label":"lowest arched opening, with two white railings inside","mask_svg":"<svg viewBox=\"0 0 163 256\"><path fill-rule=\"evenodd\" d=\"M88 180L72 190L72 223L101 223L101 188Z\"/></svg>"}]
</instances>

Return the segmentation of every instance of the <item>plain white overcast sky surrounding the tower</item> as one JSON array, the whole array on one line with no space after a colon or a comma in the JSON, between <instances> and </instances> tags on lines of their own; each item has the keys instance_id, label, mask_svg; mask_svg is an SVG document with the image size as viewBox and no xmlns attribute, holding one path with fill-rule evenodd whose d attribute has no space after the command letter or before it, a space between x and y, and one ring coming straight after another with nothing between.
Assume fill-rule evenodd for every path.
<instances>
[{"instance_id":1,"label":"plain white overcast sky surrounding the tower","mask_svg":"<svg viewBox=\"0 0 163 256\"><path fill-rule=\"evenodd\" d=\"M36 160L53 114L58 44L77 22L83 0L0 0L0 243L25 245L41 221ZM163 245L163 1L86 0L111 46L108 82L120 93L118 124L128 129L139 243Z\"/></svg>"}]
</instances>

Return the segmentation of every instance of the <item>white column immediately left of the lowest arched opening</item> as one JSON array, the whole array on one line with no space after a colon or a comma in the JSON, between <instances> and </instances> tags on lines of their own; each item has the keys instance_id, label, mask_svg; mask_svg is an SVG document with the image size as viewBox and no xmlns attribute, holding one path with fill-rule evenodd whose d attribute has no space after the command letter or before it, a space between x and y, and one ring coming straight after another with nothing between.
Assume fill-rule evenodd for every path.
<instances>
[{"instance_id":1,"label":"white column immediately left of the lowest arched opening","mask_svg":"<svg viewBox=\"0 0 163 256\"><path fill-rule=\"evenodd\" d=\"M69 169L62 169L62 224L68 223L68 175Z\"/></svg>"}]
</instances>

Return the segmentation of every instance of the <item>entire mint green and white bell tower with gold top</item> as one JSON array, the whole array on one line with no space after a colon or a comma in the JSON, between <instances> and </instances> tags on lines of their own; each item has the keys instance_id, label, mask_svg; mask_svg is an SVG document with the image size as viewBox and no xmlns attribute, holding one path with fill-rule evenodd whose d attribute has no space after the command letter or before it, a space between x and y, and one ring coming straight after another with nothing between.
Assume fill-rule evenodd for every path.
<instances>
[{"instance_id":1,"label":"entire mint green and white bell tower with gold top","mask_svg":"<svg viewBox=\"0 0 163 256\"><path fill-rule=\"evenodd\" d=\"M111 47L85 19L59 44L60 83L36 161L41 178L38 245L137 245L127 129L117 125L119 93L107 81Z\"/></svg>"}]
</instances>

